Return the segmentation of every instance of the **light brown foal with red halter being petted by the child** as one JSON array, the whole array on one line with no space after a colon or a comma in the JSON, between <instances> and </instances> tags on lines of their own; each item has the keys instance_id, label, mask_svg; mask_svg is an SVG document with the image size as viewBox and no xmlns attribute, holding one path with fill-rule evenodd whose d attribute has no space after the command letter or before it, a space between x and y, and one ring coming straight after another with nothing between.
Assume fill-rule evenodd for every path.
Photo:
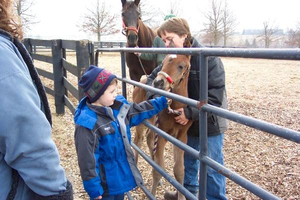
<instances>
[{"instance_id":1,"label":"light brown foal with red halter being petted by the child","mask_svg":"<svg viewBox=\"0 0 300 200\"><path fill-rule=\"evenodd\" d=\"M182 96L187 96L187 79L189 73L189 62L190 56L187 55L168 55L162 62L161 71L158 72L156 78L153 81L153 86L166 91L171 91ZM169 78L170 77L170 78ZM171 81L170 81L171 80ZM145 82L143 79L141 82ZM135 87L132 93L132 98L134 102L140 102L145 100L145 90L139 87ZM178 109L181 107L186 107L185 104L173 100L170 108ZM167 110L161 111L159 114L158 127L173 137L179 139L180 141L186 143L187 134L186 131L191 125L191 120L187 122L186 125L181 125L174 120L174 114L167 113ZM154 124L154 117L150 119L150 122ZM141 146L143 140L143 129L144 125L140 124L136 126L136 133L134 137L134 143L137 146ZM153 146L155 133L149 131L147 134L147 145L150 150L152 159L164 168L164 158L163 151L166 144L166 140L158 136L156 151L153 153ZM184 165L183 165L183 150L179 147L173 145L173 158L174 158L174 176L176 180L183 185L184 176ZM138 154L135 152L135 159L137 161ZM156 187L161 178L161 175L154 169L152 169L152 187L151 193L155 195ZM178 192L178 199L182 200L185 197Z\"/></svg>"}]
</instances>

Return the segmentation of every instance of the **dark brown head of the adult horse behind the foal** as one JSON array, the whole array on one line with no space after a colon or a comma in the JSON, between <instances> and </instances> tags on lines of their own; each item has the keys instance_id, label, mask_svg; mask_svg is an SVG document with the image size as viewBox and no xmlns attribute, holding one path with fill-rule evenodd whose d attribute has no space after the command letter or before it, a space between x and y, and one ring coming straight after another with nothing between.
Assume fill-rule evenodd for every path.
<instances>
[{"instance_id":1,"label":"dark brown head of the adult horse behind the foal","mask_svg":"<svg viewBox=\"0 0 300 200\"><path fill-rule=\"evenodd\" d=\"M129 47L134 47L137 44L137 33L139 29L139 0L121 0L122 2L122 22L123 31L127 37Z\"/></svg>"}]
</instances>

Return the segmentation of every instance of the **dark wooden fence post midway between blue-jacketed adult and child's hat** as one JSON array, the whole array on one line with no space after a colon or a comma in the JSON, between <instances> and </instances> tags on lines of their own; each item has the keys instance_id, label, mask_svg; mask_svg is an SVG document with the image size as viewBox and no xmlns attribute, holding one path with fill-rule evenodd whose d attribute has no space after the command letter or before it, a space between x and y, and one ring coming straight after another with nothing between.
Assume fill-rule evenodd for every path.
<instances>
[{"instance_id":1,"label":"dark wooden fence post midway between blue-jacketed adult and child's hat","mask_svg":"<svg viewBox=\"0 0 300 200\"><path fill-rule=\"evenodd\" d=\"M57 114L64 114L64 86L63 86L63 70L61 61L61 39L53 39L52 64L54 75L54 103Z\"/></svg>"}]
</instances>

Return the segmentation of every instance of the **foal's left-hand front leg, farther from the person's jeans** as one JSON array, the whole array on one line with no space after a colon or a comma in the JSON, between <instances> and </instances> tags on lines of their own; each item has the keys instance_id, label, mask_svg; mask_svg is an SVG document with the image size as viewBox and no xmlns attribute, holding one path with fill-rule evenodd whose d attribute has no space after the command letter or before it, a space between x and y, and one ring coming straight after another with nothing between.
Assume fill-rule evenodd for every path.
<instances>
[{"instance_id":1,"label":"foal's left-hand front leg, farther from the person's jeans","mask_svg":"<svg viewBox=\"0 0 300 200\"><path fill-rule=\"evenodd\" d=\"M163 169L164 169L163 151L164 151L165 143L166 143L166 140L163 137L158 136L157 146L156 146L156 152L155 152L155 155L154 155L154 161L161 168L163 168ZM161 178L160 173L158 173L154 168L152 168L152 187L151 187L151 193L154 196L156 194L156 188L158 186L158 182L159 182L160 178Z\"/></svg>"}]
</instances>

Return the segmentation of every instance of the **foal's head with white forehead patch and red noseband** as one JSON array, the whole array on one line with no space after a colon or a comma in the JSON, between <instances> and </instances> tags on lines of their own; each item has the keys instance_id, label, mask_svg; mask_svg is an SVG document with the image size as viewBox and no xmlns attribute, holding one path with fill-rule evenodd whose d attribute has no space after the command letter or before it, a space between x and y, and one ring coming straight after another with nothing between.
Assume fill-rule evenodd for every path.
<instances>
[{"instance_id":1,"label":"foal's head with white forehead patch and red noseband","mask_svg":"<svg viewBox=\"0 0 300 200\"><path fill-rule=\"evenodd\" d=\"M161 71L157 73L153 86L170 91L188 76L190 55L167 55L162 61Z\"/></svg>"}]
</instances>

